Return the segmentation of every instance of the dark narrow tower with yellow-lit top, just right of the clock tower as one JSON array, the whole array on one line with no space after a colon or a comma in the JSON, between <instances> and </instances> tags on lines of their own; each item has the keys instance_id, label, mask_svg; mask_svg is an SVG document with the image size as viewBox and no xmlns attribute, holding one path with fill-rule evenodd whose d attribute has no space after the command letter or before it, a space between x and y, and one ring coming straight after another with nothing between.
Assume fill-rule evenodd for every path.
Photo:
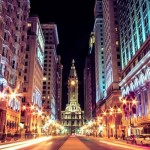
<instances>
[{"instance_id":1,"label":"dark narrow tower with yellow-lit top, just right of the clock tower","mask_svg":"<svg viewBox=\"0 0 150 150\"><path fill-rule=\"evenodd\" d=\"M91 32L89 40L89 52L86 56L84 66L84 115L86 120L91 120L96 115L94 42L94 33Z\"/></svg>"}]
</instances>

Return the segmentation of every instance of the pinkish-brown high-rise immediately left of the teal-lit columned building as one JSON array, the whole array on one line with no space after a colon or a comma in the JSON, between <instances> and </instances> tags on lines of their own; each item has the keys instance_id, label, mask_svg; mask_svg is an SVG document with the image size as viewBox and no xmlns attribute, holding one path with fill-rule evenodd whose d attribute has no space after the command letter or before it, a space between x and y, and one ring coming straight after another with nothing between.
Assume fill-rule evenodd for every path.
<instances>
[{"instance_id":1,"label":"pinkish-brown high-rise immediately left of the teal-lit columned building","mask_svg":"<svg viewBox=\"0 0 150 150\"><path fill-rule=\"evenodd\" d=\"M103 32L104 32L104 61L105 61L105 109L120 107L121 96L119 82L121 81L121 63L118 29L118 7L116 0L103 1ZM120 135L121 113L107 116L107 134L117 137ZM111 124L115 127L112 128Z\"/></svg>"}]
</instances>

